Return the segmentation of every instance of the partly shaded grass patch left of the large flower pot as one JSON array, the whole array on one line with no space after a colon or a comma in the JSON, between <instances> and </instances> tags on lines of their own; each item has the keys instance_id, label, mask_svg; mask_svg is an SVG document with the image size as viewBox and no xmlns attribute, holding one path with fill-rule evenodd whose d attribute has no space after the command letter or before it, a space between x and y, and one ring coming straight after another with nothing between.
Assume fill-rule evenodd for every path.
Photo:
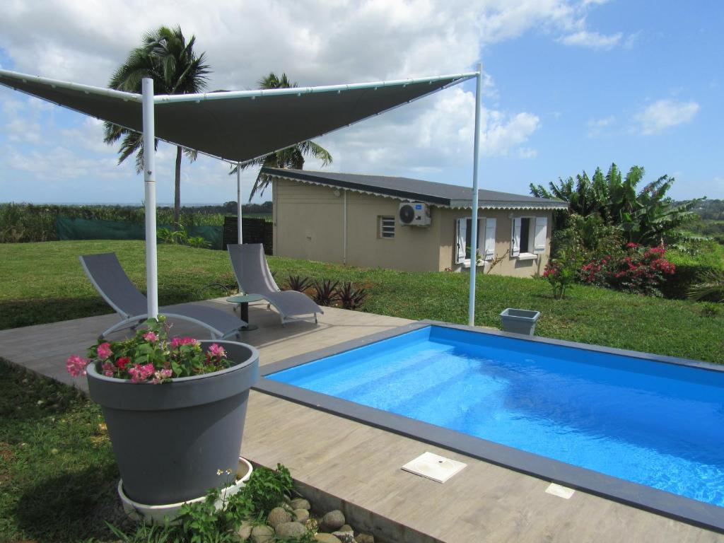
<instances>
[{"instance_id":1,"label":"partly shaded grass patch left of the large flower pot","mask_svg":"<svg viewBox=\"0 0 724 543\"><path fill-rule=\"evenodd\" d=\"M111 541L118 471L101 410L0 359L0 541Z\"/></svg>"}]
</instances>

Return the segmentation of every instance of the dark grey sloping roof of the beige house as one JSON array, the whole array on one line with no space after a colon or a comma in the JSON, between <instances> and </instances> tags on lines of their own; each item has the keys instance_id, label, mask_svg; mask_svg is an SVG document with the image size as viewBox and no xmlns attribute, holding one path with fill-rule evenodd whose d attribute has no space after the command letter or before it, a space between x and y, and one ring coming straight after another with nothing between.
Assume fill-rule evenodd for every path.
<instances>
[{"instance_id":1,"label":"dark grey sloping roof of the beige house","mask_svg":"<svg viewBox=\"0 0 724 543\"><path fill-rule=\"evenodd\" d=\"M359 192L374 193L401 200L420 201L436 206L466 208L472 206L473 189L460 185L447 185L410 177L384 175L343 174L337 172L313 172L301 169L262 168L261 173L301 182L311 182L330 187L346 188ZM479 190L481 208L487 209L567 209L568 203L547 198L535 198L521 194L500 193L496 190Z\"/></svg>"}]
</instances>

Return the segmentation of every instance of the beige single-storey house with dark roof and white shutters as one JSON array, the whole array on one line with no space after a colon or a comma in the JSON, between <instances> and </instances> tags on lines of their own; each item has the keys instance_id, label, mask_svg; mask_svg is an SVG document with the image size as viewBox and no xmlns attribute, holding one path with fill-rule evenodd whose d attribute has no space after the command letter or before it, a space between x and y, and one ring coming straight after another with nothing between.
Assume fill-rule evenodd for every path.
<instances>
[{"instance_id":1,"label":"beige single-storey house with dark roof and white shutters","mask_svg":"<svg viewBox=\"0 0 724 543\"><path fill-rule=\"evenodd\" d=\"M472 189L405 177L263 168L274 203L274 254L407 271L471 266ZM479 192L481 266L532 277L550 256L558 200Z\"/></svg>"}]
</instances>

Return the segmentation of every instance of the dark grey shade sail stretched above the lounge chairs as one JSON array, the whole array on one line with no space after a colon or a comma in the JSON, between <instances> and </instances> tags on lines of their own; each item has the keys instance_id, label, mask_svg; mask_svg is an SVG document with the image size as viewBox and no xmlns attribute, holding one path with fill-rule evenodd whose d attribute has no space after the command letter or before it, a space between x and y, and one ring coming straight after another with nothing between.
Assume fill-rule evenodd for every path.
<instances>
[{"instance_id":1,"label":"dark grey shade sail stretched above the lounge chairs","mask_svg":"<svg viewBox=\"0 0 724 543\"><path fill-rule=\"evenodd\" d=\"M327 87L155 96L156 138L244 162L352 125L476 73ZM143 131L140 94L0 70L0 85Z\"/></svg>"}]
</instances>

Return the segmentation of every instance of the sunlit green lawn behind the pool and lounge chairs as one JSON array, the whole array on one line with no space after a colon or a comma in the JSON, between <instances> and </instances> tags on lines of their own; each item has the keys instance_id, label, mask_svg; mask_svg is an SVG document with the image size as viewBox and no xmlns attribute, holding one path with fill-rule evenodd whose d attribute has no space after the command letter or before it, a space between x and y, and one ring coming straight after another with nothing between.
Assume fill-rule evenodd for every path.
<instances>
[{"instance_id":1,"label":"sunlit green lawn behind the pool and lounge chairs","mask_svg":"<svg viewBox=\"0 0 724 543\"><path fill-rule=\"evenodd\" d=\"M109 313L77 256L114 251L136 285L145 285L141 241L62 241L0 245L0 329ZM446 272L364 269L269 257L277 282L289 274L353 281L366 287L364 311L408 319L467 322L468 276ZM224 251L159 245L161 305L222 295L211 283L234 284ZM574 285L554 300L542 279L479 275L476 324L497 327L507 307L541 311L536 334L616 348L724 363L724 311L699 303L628 295Z\"/></svg>"}]
</instances>

